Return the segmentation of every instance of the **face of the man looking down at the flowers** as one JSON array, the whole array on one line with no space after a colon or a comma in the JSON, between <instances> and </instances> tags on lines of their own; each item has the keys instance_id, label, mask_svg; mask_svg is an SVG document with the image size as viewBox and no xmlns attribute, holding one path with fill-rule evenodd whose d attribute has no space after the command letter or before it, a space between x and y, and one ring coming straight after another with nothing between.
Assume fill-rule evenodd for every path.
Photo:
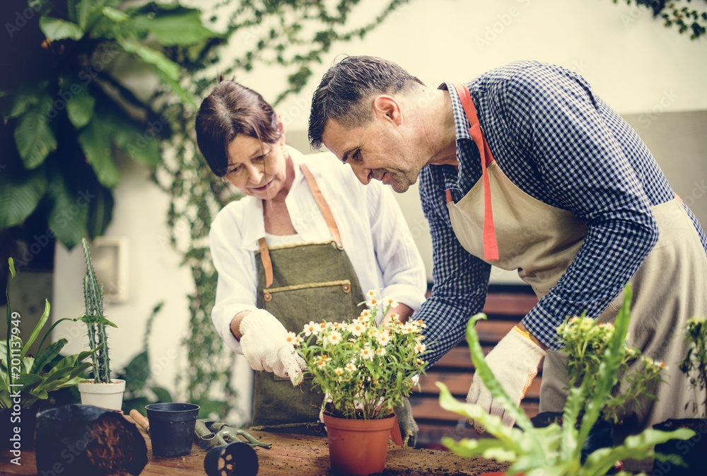
<instances>
[{"instance_id":1,"label":"face of the man looking down at the flowers","mask_svg":"<svg viewBox=\"0 0 707 476\"><path fill-rule=\"evenodd\" d=\"M374 117L354 129L329 120L322 142L340 161L351 166L363 185L375 178L402 193L417 181L420 168L414 166L408 141L400 127L385 117Z\"/></svg>"}]
</instances>

